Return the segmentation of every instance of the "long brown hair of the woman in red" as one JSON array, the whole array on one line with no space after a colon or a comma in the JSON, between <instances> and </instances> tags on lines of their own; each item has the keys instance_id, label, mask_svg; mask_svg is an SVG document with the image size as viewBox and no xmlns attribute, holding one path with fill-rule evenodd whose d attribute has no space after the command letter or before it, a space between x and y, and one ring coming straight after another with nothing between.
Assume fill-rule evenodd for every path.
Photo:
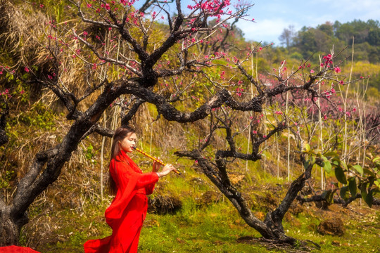
<instances>
[{"instance_id":1,"label":"long brown hair of the woman in red","mask_svg":"<svg viewBox=\"0 0 380 253\"><path fill-rule=\"evenodd\" d=\"M113 134L113 141L111 147L110 161L113 159L117 159L116 157L120 153L120 145L119 141L122 141L129 134L134 134L135 131L131 126L120 126L115 130L115 134ZM116 195L118 192L118 188L116 188L115 180L113 180L110 172L108 171L108 191L110 195Z\"/></svg>"}]
</instances>

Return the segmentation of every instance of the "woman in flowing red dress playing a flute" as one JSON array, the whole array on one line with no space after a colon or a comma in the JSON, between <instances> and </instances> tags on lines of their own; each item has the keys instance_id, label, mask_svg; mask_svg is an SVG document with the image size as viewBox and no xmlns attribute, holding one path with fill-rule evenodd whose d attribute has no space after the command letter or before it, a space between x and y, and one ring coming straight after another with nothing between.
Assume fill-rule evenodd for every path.
<instances>
[{"instance_id":1,"label":"woman in flowing red dress playing a flute","mask_svg":"<svg viewBox=\"0 0 380 253\"><path fill-rule=\"evenodd\" d=\"M153 162L152 172L143 173L128 153L132 153L137 136L129 126L120 126L113 135L110 154L109 190L115 195L106 209L106 222L112 235L84 243L85 253L132 253L137 252L141 227L148 209L146 195L153 193L161 176L175 170L167 164L158 172L160 164Z\"/></svg>"}]
</instances>

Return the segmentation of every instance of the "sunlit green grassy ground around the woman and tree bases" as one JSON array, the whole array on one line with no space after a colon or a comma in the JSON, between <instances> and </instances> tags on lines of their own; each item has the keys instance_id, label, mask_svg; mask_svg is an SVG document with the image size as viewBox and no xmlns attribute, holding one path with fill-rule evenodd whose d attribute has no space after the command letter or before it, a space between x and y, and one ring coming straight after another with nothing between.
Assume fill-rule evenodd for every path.
<instances>
[{"instance_id":1,"label":"sunlit green grassy ground around the woman and tree bases","mask_svg":"<svg viewBox=\"0 0 380 253\"><path fill-rule=\"evenodd\" d=\"M273 191L268 185L266 188L268 192ZM265 201L257 195L253 201L261 202L262 206L255 208L256 214L263 217L265 212L262 211L270 208L268 203L276 200L276 195L268 195L267 190L262 189L261 195L273 198ZM289 252L289 249L268 248L255 241L239 242L239 238L259 238L260 234L244 223L224 197L217 202L199 203L187 195L182 198L182 209L175 214L148 214L141 231L139 252ZM39 243L27 243L27 240L24 243L34 244L34 248L42 253L83 252L82 245L86 240L110 235L110 228L103 218L107 206L108 201L103 205L86 202L82 209L69 209L56 217L51 215L50 222L56 224L56 228L47 235L49 238ZM379 210L378 207L369 209L360 202L349 208L330 206L329 210L318 209L315 204L298 206L298 212L291 211L286 215L284 229L294 238L321 245L321 250L315 252L379 252ZM343 220L344 235L320 235L317 232L319 223L329 217Z\"/></svg>"}]
</instances>

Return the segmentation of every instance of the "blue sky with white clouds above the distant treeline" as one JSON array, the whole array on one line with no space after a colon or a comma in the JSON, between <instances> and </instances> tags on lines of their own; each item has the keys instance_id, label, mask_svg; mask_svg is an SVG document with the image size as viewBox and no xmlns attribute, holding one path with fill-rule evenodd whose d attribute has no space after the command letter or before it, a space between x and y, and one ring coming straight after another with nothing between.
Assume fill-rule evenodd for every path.
<instances>
[{"instance_id":1,"label":"blue sky with white clouds above the distant treeline","mask_svg":"<svg viewBox=\"0 0 380 253\"><path fill-rule=\"evenodd\" d=\"M341 23L355 19L367 21L369 19L380 21L380 0L241 0L255 4L248 13L255 18L255 23L239 21L237 26L243 30L247 40L274 42L280 46L279 36L284 28L294 26L298 31L303 26L316 27L327 21ZM137 6L142 0L137 1ZM231 0L232 4L238 0ZM191 3L183 0L183 9ZM175 11L170 6L169 11Z\"/></svg>"}]
</instances>

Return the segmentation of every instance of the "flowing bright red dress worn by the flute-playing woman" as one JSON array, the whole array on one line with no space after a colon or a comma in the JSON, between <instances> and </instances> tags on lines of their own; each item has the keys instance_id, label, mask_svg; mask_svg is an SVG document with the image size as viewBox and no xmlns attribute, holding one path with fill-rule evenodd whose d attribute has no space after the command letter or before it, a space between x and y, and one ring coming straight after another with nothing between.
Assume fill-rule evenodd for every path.
<instances>
[{"instance_id":1,"label":"flowing bright red dress worn by the flute-playing woman","mask_svg":"<svg viewBox=\"0 0 380 253\"><path fill-rule=\"evenodd\" d=\"M106 222L112 228L112 235L88 240L84 243L85 253L137 252L148 209L146 195L153 193L158 175L156 172L143 174L123 151L111 160L110 174L118 188L113 202L106 209Z\"/></svg>"}]
</instances>

